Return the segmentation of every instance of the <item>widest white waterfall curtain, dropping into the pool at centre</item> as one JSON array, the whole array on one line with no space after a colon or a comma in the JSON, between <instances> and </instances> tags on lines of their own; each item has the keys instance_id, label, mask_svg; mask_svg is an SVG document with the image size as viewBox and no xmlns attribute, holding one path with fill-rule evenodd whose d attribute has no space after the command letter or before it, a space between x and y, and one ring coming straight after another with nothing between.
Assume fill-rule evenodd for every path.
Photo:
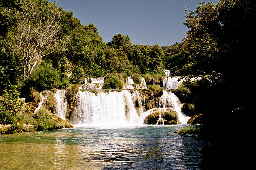
<instances>
[{"instance_id":1,"label":"widest white waterfall curtain, dropping into the pool at centre","mask_svg":"<svg viewBox=\"0 0 256 170\"><path fill-rule=\"evenodd\" d=\"M99 92L97 95L79 91L75 103L70 118L73 124L108 126L138 123L139 115L128 90Z\"/></svg>"}]
</instances>

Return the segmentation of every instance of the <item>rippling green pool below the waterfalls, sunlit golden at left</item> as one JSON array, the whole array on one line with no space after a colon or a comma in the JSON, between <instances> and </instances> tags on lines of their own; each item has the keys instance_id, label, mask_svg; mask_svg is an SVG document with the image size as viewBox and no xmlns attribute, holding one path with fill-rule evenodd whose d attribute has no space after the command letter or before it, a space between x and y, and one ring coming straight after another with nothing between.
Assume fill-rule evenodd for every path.
<instances>
[{"instance_id":1,"label":"rippling green pool below the waterfalls, sunlit golden at left","mask_svg":"<svg viewBox=\"0 0 256 170\"><path fill-rule=\"evenodd\" d=\"M204 143L187 125L71 128L0 135L0 170L200 170Z\"/></svg>"}]
</instances>

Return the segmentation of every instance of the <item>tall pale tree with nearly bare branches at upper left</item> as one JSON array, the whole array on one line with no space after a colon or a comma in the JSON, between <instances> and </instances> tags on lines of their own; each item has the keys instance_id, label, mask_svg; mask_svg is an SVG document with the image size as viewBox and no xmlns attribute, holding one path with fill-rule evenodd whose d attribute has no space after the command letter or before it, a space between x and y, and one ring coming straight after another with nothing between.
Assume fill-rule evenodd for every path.
<instances>
[{"instance_id":1,"label":"tall pale tree with nearly bare branches at upper left","mask_svg":"<svg viewBox=\"0 0 256 170\"><path fill-rule=\"evenodd\" d=\"M60 10L54 4L46 0L21 0L20 4L20 11L5 8L3 13L15 23L8 28L9 45L13 54L21 56L25 79L43 57L63 50L69 39L59 40L56 36L60 30Z\"/></svg>"}]
</instances>

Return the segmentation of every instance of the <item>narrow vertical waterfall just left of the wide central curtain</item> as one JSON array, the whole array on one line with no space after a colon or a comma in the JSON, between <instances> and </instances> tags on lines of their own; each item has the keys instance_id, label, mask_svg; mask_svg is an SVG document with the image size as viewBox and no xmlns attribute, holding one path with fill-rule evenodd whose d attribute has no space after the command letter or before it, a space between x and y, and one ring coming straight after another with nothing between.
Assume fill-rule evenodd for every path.
<instances>
[{"instance_id":1,"label":"narrow vertical waterfall just left of the wide central curtain","mask_svg":"<svg viewBox=\"0 0 256 170\"><path fill-rule=\"evenodd\" d=\"M67 109L67 90L56 90L55 93L56 103L57 103L57 115L66 120L66 109Z\"/></svg>"}]
</instances>

